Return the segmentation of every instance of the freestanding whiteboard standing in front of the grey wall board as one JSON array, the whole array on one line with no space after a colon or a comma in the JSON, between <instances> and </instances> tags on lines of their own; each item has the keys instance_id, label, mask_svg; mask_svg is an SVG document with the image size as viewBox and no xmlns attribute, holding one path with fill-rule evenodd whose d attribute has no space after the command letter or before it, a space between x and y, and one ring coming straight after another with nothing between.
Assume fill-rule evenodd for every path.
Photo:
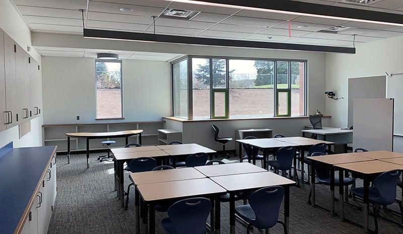
<instances>
[{"instance_id":1,"label":"freestanding whiteboard standing in front of the grey wall board","mask_svg":"<svg viewBox=\"0 0 403 234\"><path fill-rule=\"evenodd\" d=\"M393 98L354 98L354 149L393 150Z\"/></svg>"}]
</instances>

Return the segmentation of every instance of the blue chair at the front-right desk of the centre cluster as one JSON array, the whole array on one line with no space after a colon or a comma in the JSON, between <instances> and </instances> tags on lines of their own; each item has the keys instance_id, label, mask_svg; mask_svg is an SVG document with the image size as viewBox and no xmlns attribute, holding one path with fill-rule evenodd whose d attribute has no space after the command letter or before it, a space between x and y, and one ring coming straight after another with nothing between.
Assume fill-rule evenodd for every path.
<instances>
[{"instance_id":1,"label":"blue chair at the front-right desk of the centre cluster","mask_svg":"<svg viewBox=\"0 0 403 234\"><path fill-rule=\"evenodd\" d=\"M283 187L265 187L250 195L248 205L236 206L235 213L248 223L246 233L249 234L251 226L266 229L267 233L278 222L283 225L284 233L287 233L285 223L278 220L283 197Z\"/></svg>"}]
</instances>

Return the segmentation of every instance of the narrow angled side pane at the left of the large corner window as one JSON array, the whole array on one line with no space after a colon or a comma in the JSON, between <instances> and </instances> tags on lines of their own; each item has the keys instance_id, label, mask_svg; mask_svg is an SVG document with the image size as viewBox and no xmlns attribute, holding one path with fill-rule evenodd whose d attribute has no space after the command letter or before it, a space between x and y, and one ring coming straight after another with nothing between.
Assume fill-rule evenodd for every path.
<instances>
[{"instance_id":1,"label":"narrow angled side pane at the left of the large corner window","mask_svg":"<svg viewBox=\"0 0 403 234\"><path fill-rule=\"evenodd\" d=\"M187 60L172 64L173 114L187 118Z\"/></svg>"}]
</instances>

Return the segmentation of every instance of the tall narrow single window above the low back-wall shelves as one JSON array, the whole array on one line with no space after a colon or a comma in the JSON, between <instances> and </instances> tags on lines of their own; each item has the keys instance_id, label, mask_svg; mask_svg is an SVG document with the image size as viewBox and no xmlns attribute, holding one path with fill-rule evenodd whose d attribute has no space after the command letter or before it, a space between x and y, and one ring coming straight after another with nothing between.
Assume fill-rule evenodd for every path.
<instances>
[{"instance_id":1,"label":"tall narrow single window above the low back-wall shelves","mask_svg":"<svg viewBox=\"0 0 403 234\"><path fill-rule=\"evenodd\" d=\"M123 118L122 63L95 61L97 119Z\"/></svg>"}]
</instances>

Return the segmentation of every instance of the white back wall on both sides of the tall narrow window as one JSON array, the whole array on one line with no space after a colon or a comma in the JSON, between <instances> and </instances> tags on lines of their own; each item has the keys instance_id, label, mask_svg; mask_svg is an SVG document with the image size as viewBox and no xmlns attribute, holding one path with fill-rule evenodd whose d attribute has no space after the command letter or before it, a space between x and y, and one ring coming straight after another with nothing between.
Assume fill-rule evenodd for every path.
<instances>
[{"instance_id":1,"label":"white back wall on both sides of the tall narrow window","mask_svg":"<svg viewBox=\"0 0 403 234\"><path fill-rule=\"evenodd\" d=\"M42 64L44 123L96 122L95 59L43 57ZM170 74L167 62L123 60L125 119L121 121L160 120L169 116ZM77 115L80 121L76 120Z\"/></svg>"}]
</instances>

